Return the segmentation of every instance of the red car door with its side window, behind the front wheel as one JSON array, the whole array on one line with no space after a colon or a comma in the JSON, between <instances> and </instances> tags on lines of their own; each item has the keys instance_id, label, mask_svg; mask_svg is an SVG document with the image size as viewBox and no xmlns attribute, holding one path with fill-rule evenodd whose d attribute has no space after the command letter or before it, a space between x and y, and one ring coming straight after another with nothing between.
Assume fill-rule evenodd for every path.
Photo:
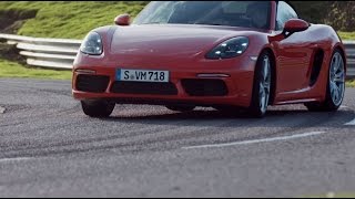
<instances>
[{"instance_id":1,"label":"red car door with its side window, behind the front wheel","mask_svg":"<svg viewBox=\"0 0 355 199\"><path fill-rule=\"evenodd\" d=\"M296 12L283 1L277 3L276 33L282 33L284 24L290 19L297 19ZM276 97L302 97L300 94L308 86L307 73L310 70L312 46L306 36L307 30L274 41L273 45L277 54L277 86Z\"/></svg>"}]
</instances>

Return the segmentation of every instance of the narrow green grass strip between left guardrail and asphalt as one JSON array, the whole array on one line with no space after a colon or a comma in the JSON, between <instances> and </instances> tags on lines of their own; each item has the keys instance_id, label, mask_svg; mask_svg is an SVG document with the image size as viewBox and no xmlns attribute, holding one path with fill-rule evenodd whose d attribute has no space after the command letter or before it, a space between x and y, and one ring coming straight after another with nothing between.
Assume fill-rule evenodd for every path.
<instances>
[{"instance_id":1,"label":"narrow green grass strip between left guardrail and asphalt","mask_svg":"<svg viewBox=\"0 0 355 199\"><path fill-rule=\"evenodd\" d=\"M41 80L71 80L71 71L29 69L23 65L0 60L0 77L29 77Z\"/></svg>"}]
</instances>

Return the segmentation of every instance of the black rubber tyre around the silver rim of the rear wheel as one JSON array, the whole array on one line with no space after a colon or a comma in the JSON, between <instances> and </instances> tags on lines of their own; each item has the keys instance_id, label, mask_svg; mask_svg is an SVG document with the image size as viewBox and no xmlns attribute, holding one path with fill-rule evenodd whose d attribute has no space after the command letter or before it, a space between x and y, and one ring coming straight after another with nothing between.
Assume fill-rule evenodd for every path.
<instances>
[{"instance_id":1,"label":"black rubber tyre around the silver rim of the rear wheel","mask_svg":"<svg viewBox=\"0 0 355 199\"><path fill-rule=\"evenodd\" d=\"M335 50L332 54L332 60L329 62L329 67L328 67L328 76L327 76L327 86L326 86L326 94L325 94L325 101L320 103L320 102L311 102L311 103L305 103L304 105L307 107L310 112L336 112L344 100L344 93L345 93L345 83L344 83L344 92L342 94L341 103L335 104L335 102L332 98L332 92L331 92L331 69L332 69L332 62L333 57L335 54L341 54L342 61L343 61L343 66L344 66L344 76L345 76L345 63L344 59L342 56L342 52L339 50ZM344 80L345 81L345 80Z\"/></svg>"}]
</instances>

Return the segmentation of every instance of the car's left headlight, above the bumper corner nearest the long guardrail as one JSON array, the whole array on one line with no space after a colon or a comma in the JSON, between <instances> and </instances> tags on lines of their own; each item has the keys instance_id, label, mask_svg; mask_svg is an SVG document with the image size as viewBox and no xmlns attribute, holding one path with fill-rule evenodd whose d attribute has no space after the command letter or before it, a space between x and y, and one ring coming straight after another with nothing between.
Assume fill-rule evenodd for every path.
<instances>
[{"instance_id":1,"label":"car's left headlight, above the bumper corner nearest the long guardrail","mask_svg":"<svg viewBox=\"0 0 355 199\"><path fill-rule=\"evenodd\" d=\"M90 55L102 54L102 40L100 34L90 32L81 43L80 51Z\"/></svg>"}]
</instances>

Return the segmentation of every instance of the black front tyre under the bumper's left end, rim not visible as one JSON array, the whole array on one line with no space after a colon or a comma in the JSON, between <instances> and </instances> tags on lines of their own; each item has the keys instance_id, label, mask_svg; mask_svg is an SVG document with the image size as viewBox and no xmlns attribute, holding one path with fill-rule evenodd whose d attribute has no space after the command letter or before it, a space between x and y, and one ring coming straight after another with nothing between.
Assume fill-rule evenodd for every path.
<instances>
[{"instance_id":1,"label":"black front tyre under the bumper's left end, rim not visible","mask_svg":"<svg viewBox=\"0 0 355 199\"><path fill-rule=\"evenodd\" d=\"M108 101L87 102L81 101L81 107L85 115L90 117L109 117L115 104Z\"/></svg>"}]
</instances>

